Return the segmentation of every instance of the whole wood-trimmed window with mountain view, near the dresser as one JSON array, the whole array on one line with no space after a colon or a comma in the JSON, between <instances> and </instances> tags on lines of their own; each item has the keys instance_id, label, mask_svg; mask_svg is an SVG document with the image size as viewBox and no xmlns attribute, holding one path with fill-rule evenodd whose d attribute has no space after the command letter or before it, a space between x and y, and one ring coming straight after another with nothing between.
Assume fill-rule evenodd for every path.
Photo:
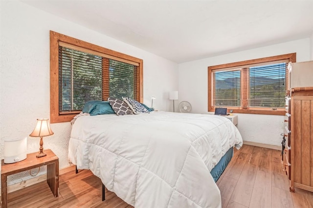
<instances>
[{"instance_id":1,"label":"whole wood-trimmed window with mountain view, near the dresser","mask_svg":"<svg viewBox=\"0 0 313 208\"><path fill-rule=\"evenodd\" d=\"M208 67L208 111L226 107L233 113L285 113L288 63L296 54Z\"/></svg>"}]
</instances>

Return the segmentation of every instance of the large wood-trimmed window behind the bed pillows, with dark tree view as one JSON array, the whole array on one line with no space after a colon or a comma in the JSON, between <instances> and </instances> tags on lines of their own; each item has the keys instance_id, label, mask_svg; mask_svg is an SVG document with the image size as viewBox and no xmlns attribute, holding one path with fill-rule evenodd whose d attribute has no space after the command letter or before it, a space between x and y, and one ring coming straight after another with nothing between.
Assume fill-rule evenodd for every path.
<instances>
[{"instance_id":1,"label":"large wood-trimmed window behind the bed pillows, with dark tree view","mask_svg":"<svg viewBox=\"0 0 313 208\"><path fill-rule=\"evenodd\" d=\"M50 31L50 120L70 121L90 100L142 102L142 59Z\"/></svg>"}]
</instances>

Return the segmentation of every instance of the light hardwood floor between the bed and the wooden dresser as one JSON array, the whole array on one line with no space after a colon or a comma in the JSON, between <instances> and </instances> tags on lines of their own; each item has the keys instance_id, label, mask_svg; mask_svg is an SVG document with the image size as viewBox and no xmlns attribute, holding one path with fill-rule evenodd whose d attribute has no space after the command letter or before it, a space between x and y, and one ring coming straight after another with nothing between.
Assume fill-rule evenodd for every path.
<instances>
[{"instance_id":1,"label":"light hardwood floor between the bed and the wooden dresser","mask_svg":"<svg viewBox=\"0 0 313 208\"><path fill-rule=\"evenodd\" d=\"M223 208L313 208L313 192L289 191L281 152L244 145L217 181Z\"/></svg>"}]
</instances>

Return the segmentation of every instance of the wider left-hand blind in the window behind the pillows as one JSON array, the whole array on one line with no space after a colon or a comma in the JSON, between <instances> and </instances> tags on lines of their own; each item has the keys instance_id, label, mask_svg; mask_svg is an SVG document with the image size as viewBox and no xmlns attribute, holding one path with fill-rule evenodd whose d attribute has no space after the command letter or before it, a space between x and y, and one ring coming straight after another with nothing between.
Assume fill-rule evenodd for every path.
<instances>
[{"instance_id":1,"label":"wider left-hand blind in the window behind the pillows","mask_svg":"<svg viewBox=\"0 0 313 208\"><path fill-rule=\"evenodd\" d=\"M102 100L102 57L59 47L59 111L82 110Z\"/></svg>"}]
</instances>

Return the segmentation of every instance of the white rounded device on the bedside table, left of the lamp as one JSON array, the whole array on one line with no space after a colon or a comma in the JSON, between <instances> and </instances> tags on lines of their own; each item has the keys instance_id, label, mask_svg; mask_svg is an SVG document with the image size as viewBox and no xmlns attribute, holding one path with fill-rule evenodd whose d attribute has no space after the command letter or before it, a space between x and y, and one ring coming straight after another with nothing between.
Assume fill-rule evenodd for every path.
<instances>
[{"instance_id":1,"label":"white rounded device on the bedside table, left of the lamp","mask_svg":"<svg viewBox=\"0 0 313 208\"><path fill-rule=\"evenodd\" d=\"M4 140L4 163L16 163L27 157L27 137Z\"/></svg>"}]
</instances>

